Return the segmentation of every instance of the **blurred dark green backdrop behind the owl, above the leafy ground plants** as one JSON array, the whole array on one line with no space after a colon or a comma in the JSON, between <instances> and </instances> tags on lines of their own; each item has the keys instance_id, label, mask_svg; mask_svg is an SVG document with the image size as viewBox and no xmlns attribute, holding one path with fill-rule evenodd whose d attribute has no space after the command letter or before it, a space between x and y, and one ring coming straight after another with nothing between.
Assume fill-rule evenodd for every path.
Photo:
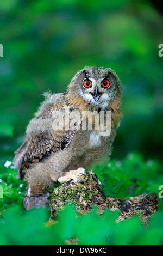
<instances>
[{"instance_id":1,"label":"blurred dark green backdrop behind the owl, above the leafy ground plants","mask_svg":"<svg viewBox=\"0 0 163 256\"><path fill-rule=\"evenodd\" d=\"M12 160L42 93L65 92L85 65L115 70L123 88L111 159L162 160L161 11L149 1L5 0L0 3L0 161Z\"/></svg>"}]
</instances>

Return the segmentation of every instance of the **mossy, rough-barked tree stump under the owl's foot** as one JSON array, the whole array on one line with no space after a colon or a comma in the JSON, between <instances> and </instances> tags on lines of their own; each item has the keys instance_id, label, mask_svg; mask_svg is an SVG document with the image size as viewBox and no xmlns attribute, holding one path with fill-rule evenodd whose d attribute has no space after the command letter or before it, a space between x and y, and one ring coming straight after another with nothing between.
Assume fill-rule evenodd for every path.
<instances>
[{"instance_id":1,"label":"mossy, rough-barked tree stump under the owl's foot","mask_svg":"<svg viewBox=\"0 0 163 256\"><path fill-rule=\"evenodd\" d=\"M104 209L118 211L117 222L124 219L139 216L143 224L147 224L148 218L158 208L158 197L156 193L142 194L128 199L106 197L101 190L98 180L93 172L86 172L86 177L80 174L82 183L68 181L55 188L50 201L51 217L59 214L66 203L72 203L76 211L86 214L92 210L93 205L97 205L99 214L103 214Z\"/></svg>"}]
</instances>

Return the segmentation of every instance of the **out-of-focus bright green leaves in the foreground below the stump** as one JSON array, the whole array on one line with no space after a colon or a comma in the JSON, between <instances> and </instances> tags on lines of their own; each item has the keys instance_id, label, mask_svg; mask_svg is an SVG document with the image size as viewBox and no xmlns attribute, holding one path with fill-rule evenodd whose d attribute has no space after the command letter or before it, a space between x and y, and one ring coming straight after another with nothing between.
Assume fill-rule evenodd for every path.
<instances>
[{"instance_id":1,"label":"out-of-focus bright green leaves in the foreground below the stump","mask_svg":"<svg viewBox=\"0 0 163 256\"><path fill-rule=\"evenodd\" d=\"M162 245L162 213L156 212L144 228L136 217L115 224L116 212L105 210L101 217L94 209L76 216L68 205L58 221L47 225L47 208L22 214L20 206L12 206L0 220L0 245L64 245L70 237L78 237L79 245Z\"/></svg>"}]
</instances>

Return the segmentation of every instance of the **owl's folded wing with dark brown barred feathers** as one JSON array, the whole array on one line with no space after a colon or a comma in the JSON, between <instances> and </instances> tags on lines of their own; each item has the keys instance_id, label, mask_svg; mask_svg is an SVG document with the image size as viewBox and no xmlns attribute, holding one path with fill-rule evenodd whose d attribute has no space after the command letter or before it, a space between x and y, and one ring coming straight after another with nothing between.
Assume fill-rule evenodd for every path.
<instances>
[{"instance_id":1,"label":"owl's folded wing with dark brown barred feathers","mask_svg":"<svg viewBox=\"0 0 163 256\"><path fill-rule=\"evenodd\" d=\"M64 110L68 108L65 103L55 103L51 107L46 109L41 115L37 116L35 121L39 120L45 122L52 118L56 111ZM73 107L71 107L71 112ZM14 164L18 170L18 175L23 178L22 170L29 169L33 164L42 161L48 156L53 155L59 150L64 150L68 144L71 142L74 133L77 131L76 124L74 124L73 129L62 130L45 130L41 133L32 134L31 137L26 139L21 147L15 152Z\"/></svg>"}]
</instances>

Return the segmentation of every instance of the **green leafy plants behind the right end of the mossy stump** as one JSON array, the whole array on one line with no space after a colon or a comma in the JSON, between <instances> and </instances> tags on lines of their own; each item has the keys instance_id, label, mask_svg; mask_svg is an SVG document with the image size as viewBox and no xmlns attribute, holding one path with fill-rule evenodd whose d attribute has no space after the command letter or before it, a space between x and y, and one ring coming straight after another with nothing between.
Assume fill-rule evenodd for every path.
<instances>
[{"instance_id":1,"label":"green leafy plants behind the right end of the mossy stump","mask_svg":"<svg viewBox=\"0 0 163 256\"><path fill-rule=\"evenodd\" d=\"M110 197L158 193L158 187L163 184L162 164L152 159L144 161L137 153L129 153L121 161L110 160L104 166L97 166L94 172L103 182L105 194Z\"/></svg>"}]
</instances>

